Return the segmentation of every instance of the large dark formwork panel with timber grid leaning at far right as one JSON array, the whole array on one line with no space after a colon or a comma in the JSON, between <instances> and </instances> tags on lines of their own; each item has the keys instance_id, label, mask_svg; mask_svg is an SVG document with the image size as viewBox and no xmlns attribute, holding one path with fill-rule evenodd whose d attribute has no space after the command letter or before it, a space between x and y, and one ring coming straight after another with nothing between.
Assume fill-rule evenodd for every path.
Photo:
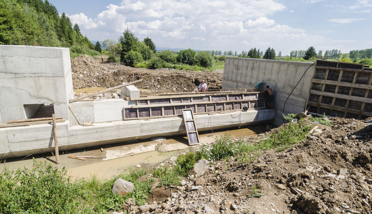
<instances>
[{"instance_id":1,"label":"large dark formwork panel with timber grid leaning at far right","mask_svg":"<svg viewBox=\"0 0 372 214\"><path fill-rule=\"evenodd\" d=\"M306 108L332 117L372 117L372 68L317 60Z\"/></svg>"}]
</instances>

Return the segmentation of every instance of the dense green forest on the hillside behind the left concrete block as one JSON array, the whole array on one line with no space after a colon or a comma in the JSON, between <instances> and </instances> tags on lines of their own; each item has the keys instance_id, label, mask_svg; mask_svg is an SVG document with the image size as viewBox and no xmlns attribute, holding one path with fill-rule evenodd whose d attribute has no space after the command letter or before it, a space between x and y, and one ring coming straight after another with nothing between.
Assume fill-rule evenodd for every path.
<instances>
[{"instance_id":1,"label":"dense green forest on the hillside behind the left concrete block","mask_svg":"<svg viewBox=\"0 0 372 214\"><path fill-rule=\"evenodd\" d=\"M1 0L0 44L70 48L71 58L99 55L95 46L48 0Z\"/></svg>"}]
</instances>

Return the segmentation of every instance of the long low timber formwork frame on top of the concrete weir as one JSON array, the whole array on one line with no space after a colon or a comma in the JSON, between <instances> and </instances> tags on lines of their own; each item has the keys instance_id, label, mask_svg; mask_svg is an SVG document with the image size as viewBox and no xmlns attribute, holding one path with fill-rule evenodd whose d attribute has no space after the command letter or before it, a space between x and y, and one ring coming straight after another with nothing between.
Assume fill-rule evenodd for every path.
<instances>
[{"instance_id":1,"label":"long low timber formwork frame on top of the concrete weir","mask_svg":"<svg viewBox=\"0 0 372 214\"><path fill-rule=\"evenodd\" d=\"M124 107L124 120L182 116L182 109L190 108L194 114L223 113L227 111L266 108L267 93L223 92L138 97L136 104Z\"/></svg>"}]
</instances>

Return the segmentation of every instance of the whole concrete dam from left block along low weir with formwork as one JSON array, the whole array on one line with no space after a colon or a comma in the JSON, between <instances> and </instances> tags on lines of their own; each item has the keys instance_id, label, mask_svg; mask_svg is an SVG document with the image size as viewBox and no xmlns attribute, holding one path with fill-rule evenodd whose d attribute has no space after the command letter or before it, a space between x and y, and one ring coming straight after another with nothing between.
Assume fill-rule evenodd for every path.
<instances>
[{"instance_id":1,"label":"whole concrete dam from left block along low weir with formwork","mask_svg":"<svg viewBox=\"0 0 372 214\"><path fill-rule=\"evenodd\" d=\"M266 108L266 93L249 89L141 97L128 85L121 89L121 99L71 102L68 48L0 45L0 53L0 158L54 151L50 120L14 127L11 120L55 114L61 118L56 123L58 147L66 151L186 134L180 115L186 108L193 110L199 131L266 123L276 115Z\"/></svg>"}]
</instances>

